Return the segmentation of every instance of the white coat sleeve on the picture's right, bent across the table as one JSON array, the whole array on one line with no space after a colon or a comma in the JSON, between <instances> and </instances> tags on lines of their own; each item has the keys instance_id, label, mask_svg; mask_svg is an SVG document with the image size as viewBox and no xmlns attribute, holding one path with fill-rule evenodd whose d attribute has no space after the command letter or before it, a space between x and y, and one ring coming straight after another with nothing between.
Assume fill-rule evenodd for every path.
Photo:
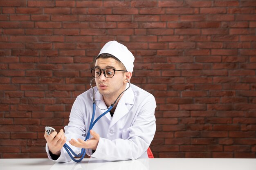
<instances>
[{"instance_id":1,"label":"white coat sleeve on the picture's right, bent across the table","mask_svg":"<svg viewBox=\"0 0 256 170\"><path fill-rule=\"evenodd\" d=\"M122 132L123 139L109 140L100 138L96 152L92 157L108 161L137 159L146 152L155 135L155 98L146 97L138 106L139 114L127 131Z\"/></svg>"}]
</instances>

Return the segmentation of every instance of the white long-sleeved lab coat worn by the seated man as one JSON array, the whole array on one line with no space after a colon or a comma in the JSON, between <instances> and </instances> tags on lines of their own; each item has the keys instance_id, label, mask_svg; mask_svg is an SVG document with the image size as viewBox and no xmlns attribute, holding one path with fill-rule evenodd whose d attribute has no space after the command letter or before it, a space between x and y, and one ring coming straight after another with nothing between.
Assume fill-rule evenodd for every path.
<instances>
[{"instance_id":1,"label":"white long-sleeved lab coat worn by the seated man","mask_svg":"<svg viewBox=\"0 0 256 170\"><path fill-rule=\"evenodd\" d=\"M96 105L101 109L107 108L97 87L94 87L94 90ZM68 141L72 138L85 139L92 117L92 98L92 89L76 98L71 109L70 122L64 128L67 144L76 154L81 152L81 148L71 146ZM106 111L97 106L94 120ZM100 135L100 139L93 154L91 149L86 149L87 155L108 161L148 158L147 149L156 130L155 108L153 95L131 84L120 98L113 117L107 113L92 128ZM51 159L47 144L46 151ZM62 148L61 156L56 161L70 160L66 150Z\"/></svg>"}]
</instances>

